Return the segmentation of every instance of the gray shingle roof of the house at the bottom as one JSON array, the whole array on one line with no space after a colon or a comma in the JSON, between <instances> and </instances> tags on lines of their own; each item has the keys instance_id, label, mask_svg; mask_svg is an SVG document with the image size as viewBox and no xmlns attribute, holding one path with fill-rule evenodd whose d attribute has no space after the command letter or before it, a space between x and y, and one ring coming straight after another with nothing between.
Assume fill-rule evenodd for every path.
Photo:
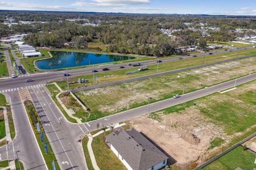
<instances>
[{"instance_id":1,"label":"gray shingle roof of the house at the bottom","mask_svg":"<svg viewBox=\"0 0 256 170\"><path fill-rule=\"evenodd\" d=\"M106 136L119 154L134 170L151 168L168 157L135 129L113 131Z\"/></svg>"}]
</instances>

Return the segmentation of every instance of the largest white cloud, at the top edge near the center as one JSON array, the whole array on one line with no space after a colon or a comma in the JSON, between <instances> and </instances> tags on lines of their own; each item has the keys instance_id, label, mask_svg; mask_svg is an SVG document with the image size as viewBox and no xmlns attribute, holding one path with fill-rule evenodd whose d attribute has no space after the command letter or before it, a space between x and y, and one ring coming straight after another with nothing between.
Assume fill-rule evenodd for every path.
<instances>
[{"instance_id":1,"label":"largest white cloud, at the top edge near the center","mask_svg":"<svg viewBox=\"0 0 256 170\"><path fill-rule=\"evenodd\" d=\"M112 7L112 6L127 6L127 5L142 5L149 4L150 0L92 0L91 2L76 1L73 6L80 7Z\"/></svg>"}]
</instances>

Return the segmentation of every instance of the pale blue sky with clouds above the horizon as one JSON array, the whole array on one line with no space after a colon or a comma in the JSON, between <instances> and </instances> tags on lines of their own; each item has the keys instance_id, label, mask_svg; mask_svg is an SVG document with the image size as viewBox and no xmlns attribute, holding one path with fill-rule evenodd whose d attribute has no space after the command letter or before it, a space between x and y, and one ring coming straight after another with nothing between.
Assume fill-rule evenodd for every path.
<instances>
[{"instance_id":1,"label":"pale blue sky with clouds above the horizon","mask_svg":"<svg viewBox=\"0 0 256 170\"><path fill-rule=\"evenodd\" d=\"M0 10L256 15L256 0L0 0Z\"/></svg>"}]
</instances>

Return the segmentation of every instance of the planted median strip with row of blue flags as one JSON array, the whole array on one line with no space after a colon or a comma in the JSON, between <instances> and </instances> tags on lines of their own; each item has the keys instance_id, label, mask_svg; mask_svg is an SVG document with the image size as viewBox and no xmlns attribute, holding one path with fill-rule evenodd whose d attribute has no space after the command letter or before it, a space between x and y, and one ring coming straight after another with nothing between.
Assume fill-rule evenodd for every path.
<instances>
[{"instance_id":1,"label":"planted median strip with row of blue flags","mask_svg":"<svg viewBox=\"0 0 256 170\"><path fill-rule=\"evenodd\" d=\"M26 108L26 111L27 111L28 118L30 120L32 129L35 133L36 141L38 141L38 145L39 145L40 150L43 154L44 160L46 161L48 169L52 169L52 160L55 161L56 169L60 169L59 164L57 163L55 155L52 151L52 147L51 147L45 133L44 133L44 142L43 143L41 142L41 134L38 133L38 131L36 129L36 123L40 122L40 118L39 118L38 114L36 113L36 110L34 108L34 105L33 105L32 101L30 101L30 100L24 101L24 106ZM40 130L41 131L44 130L41 123L40 123ZM48 154L46 154L46 151L45 151L45 148L44 148L44 143L48 143Z\"/></svg>"}]
</instances>

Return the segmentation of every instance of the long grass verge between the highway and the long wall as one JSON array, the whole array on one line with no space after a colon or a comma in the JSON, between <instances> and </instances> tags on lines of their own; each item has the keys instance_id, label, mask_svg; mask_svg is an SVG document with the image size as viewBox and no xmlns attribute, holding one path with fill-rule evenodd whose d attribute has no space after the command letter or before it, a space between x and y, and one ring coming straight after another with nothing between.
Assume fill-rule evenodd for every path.
<instances>
[{"instance_id":1,"label":"long grass verge between the highway and the long wall","mask_svg":"<svg viewBox=\"0 0 256 170\"><path fill-rule=\"evenodd\" d=\"M249 56L251 54L256 54L256 49L250 49L250 50L244 50L244 51L238 52L238 57ZM211 56L206 56L204 63L222 61L225 59L236 58L236 57L237 57L237 52L213 54ZM204 57L196 57L196 58L189 58L189 59L184 59L184 60L181 59L179 61L159 63L158 71L160 73L160 72L164 72L164 71L170 71L170 70L175 70L175 69L182 69L182 68L189 67L189 66L200 65L200 64L203 64L203 58ZM116 71L110 70L110 71L106 71L106 72L96 73L97 74L97 84L114 82L114 81L121 80L121 79L134 78L134 77L148 75L148 74L154 74L157 71L157 67L158 67L158 64L155 63L155 65L148 66L147 71L138 71L137 73L129 74L129 75L126 75L125 73L127 71L138 70L138 67L133 67L133 66L128 67L127 66L125 69L122 69L122 70L116 70ZM104 77L104 76L106 76L106 77ZM73 81L76 81L78 78L88 79L89 83L86 83L87 86L93 85L93 74L76 76L76 77L70 78L69 81L73 82ZM57 84L63 90L67 90L67 82L65 80L57 82ZM69 88L75 89L75 88L79 88L82 86L84 86L84 84L76 83L76 84L70 84Z\"/></svg>"}]
</instances>

